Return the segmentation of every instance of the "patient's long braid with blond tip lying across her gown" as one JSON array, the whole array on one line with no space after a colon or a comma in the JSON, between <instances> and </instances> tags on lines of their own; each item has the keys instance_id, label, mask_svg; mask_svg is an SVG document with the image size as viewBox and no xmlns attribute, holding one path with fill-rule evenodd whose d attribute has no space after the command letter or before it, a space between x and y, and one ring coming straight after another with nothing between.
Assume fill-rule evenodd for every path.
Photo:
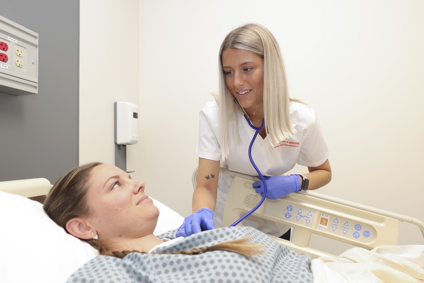
<instances>
[{"instance_id":1,"label":"patient's long braid with blond tip lying across her gown","mask_svg":"<svg viewBox=\"0 0 424 283\"><path fill-rule=\"evenodd\" d=\"M252 243L248 243L248 241L250 240L250 238L241 238L241 239L237 239L237 240L232 240L232 241L227 241L227 242L223 242L223 243L219 243L216 245L213 245L211 247L201 247L201 248L194 248L192 250L183 250L180 252L171 252L169 254L172 255L178 255L178 254L182 254L182 255L198 255L198 254L202 254L202 253L206 253L206 252L212 252L212 251L227 251L227 252L232 252L232 253L237 253L240 254L242 256L245 256L247 258L253 256L253 255L257 255L261 253L261 249L263 249L262 245L258 245L258 244L252 244ZM117 258L123 258L126 255L130 254L130 253L140 253L139 251L122 251L122 252L117 252L117 251L107 251L107 250L100 250L100 254L105 255L105 256L113 256L113 257L117 257ZM142 254L146 254L146 253L142 253Z\"/></svg>"}]
</instances>

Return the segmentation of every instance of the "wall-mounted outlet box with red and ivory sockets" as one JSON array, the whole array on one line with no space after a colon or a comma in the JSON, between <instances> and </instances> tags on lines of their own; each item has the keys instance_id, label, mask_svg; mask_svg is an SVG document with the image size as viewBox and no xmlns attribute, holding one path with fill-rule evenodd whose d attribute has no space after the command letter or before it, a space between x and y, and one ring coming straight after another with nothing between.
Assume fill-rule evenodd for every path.
<instances>
[{"instance_id":1,"label":"wall-mounted outlet box with red and ivory sockets","mask_svg":"<svg viewBox=\"0 0 424 283\"><path fill-rule=\"evenodd\" d=\"M0 16L0 92L38 93L38 33Z\"/></svg>"}]
</instances>

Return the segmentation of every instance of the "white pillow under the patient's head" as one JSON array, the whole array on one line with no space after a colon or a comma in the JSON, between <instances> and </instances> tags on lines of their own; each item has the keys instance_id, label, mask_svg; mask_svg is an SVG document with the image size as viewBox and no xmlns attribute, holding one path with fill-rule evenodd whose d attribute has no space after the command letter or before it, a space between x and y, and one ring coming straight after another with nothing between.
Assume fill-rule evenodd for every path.
<instances>
[{"instance_id":1,"label":"white pillow under the patient's head","mask_svg":"<svg viewBox=\"0 0 424 283\"><path fill-rule=\"evenodd\" d=\"M154 200L160 210L155 235L178 228L184 218ZM0 192L0 282L61 283L98 255L69 235L25 197ZM174 227L176 226L176 227Z\"/></svg>"}]
</instances>

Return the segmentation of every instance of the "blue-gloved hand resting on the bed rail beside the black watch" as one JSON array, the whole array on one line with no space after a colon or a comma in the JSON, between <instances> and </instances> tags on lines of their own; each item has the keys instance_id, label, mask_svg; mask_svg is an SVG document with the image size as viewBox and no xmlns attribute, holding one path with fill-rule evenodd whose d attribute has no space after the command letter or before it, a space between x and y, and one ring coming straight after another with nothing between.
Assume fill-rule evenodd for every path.
<instances>
[{"instance_id":1,"label":"blue-gloved hand resting on the bed rail beside the black watch","mask_svg":"<svg viewBox=\"0 0 424 283\"><path fill-rule=\"evenodd\" d=\"M290 193L300 191L299 175L292 174L289 176L271 176L264 177L266 183L267 199L276 200L287 196ZM263 182L254 182L252 187L256 189L256 193L263 197Z\"/></svg>"}]
</instances>

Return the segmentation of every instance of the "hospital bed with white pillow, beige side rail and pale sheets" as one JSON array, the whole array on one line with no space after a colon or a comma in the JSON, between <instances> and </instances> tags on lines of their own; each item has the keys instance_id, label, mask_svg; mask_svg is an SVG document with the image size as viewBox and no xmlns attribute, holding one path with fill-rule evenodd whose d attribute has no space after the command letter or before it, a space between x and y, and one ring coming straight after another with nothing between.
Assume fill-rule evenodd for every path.
<instances>
[{"instance_id":1,"label":"hospital bed with white pillow, beige side rail and pale sheets","mask_svg":"<svg viewBox=\"0 0 424 283\"><path fill-rule=\"evenodd\" d=\"M251 188L254 181L251 176L223 168L221 172L234 176L224 212L224 225L230 225L258 202L258 195ZM197 170L193 174L194 186L196 179ZM0 182L0 282L65 282L75 270L98 255L89 244L67 234L44 213L38 201L42 202L50 189L50 182L43 178ZM29 199L34 197L36 200ZM160 210L155 235L176 229L183 222L184 218L169 207L157 200L154 203ZM270 237L297 253L311 255L315 283L385 282L373 281L371 277L357 280L355 271L370 267L379 274L378 279L383 272L397 282L424 280L424 246L397 246L400 221L416 225L424 235L423 222L412 217L315 192L266 200L253 215L293 227L290 242ZM336 257L309 247L313 234L348 242L357 248ZM354 249L361 251L360 255L352 253ZM368 260L374 257L378 258L378 267ZM389 259L387 265L380 267L386 259Z\"/></svg>"}]
</instances>

